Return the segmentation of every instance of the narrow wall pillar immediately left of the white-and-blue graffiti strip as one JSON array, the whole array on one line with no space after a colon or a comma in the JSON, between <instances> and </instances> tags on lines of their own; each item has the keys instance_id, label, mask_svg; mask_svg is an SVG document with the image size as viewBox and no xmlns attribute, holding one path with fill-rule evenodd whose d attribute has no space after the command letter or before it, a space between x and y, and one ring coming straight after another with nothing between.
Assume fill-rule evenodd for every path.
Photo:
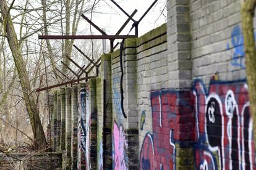
<instances>
[{"instance_id":1,"label":"narrow wall pillar immediately left of the white-and-blue graffiti strip","mask_svg":"<svg viewBox=\"0 0 256 170\"><path fill-rule=\"evenodd\" d=\"M71 163L72 169L77 169L77 85L72 86L71 89Z\"/></svg>"}]
</instances>

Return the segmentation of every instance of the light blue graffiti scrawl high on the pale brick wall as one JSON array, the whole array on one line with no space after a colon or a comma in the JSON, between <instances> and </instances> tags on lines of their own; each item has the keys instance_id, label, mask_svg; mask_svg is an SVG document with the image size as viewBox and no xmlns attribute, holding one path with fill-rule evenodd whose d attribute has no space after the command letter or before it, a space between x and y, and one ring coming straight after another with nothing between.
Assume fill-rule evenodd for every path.
<instances>
[{"instance_id":1,"label":"light blue graffiti scrawl high on the pale brick wall","mask_svg":"<svg viewBox=\"0 0 256 170\"><path fill-rule=\"evenodd\" d=\"M254 38L256 37L256 33L254 33ZM232 44L227 44L228 50L234 49L233 59L231 61L231 65L234 67L240 67L242 69L245 68L244 65L244 36L242 35L242 30L239 25L234 26L231 33L231 42Z\"/></svg>"}]
</instances>

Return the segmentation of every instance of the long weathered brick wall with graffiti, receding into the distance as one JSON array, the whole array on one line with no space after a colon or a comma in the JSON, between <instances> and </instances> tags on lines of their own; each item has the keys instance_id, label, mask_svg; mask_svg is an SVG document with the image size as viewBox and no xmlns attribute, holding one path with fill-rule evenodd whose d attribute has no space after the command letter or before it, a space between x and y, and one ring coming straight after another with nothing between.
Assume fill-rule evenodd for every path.
<instances>
[{"instance_id":1,"label":"long weathered brick wall with graffiti, receding into the distance","mask_svg":"<svg viewBox=\"0 0 256 170\"><path fill-rule=\"evenodd\" d=\"M79 169L255 169L240 2L167 10L80 87Z\"/></svg>"}]
</instances>

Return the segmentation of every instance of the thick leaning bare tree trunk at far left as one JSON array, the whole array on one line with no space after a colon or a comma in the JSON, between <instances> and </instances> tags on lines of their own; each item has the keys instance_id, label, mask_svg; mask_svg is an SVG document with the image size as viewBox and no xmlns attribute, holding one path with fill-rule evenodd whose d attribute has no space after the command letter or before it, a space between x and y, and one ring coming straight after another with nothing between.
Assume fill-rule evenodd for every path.
<instances>
[{"instance_id":1,"label":"thick leaning bare tree trunk at far left","mask_svg":"<svg viewBox=\"0 0 256 170\"><path fill-rule=\"evenodd\" d=\"M35 100L32 97L32 89L28 78L25 62L19 48L17 34L15 33L14 25L12 23L9 9L6 0L0 1L0 10L4 20L4 31L6 31L7 41L12 51L15 67L17 68L20 84L22 86L23 97L25 105L30 117L30 124L32 126L35 148L44 148L46 146L45 132L41 125L40 116L35 105Z\"/></svg>"}]
</instances>

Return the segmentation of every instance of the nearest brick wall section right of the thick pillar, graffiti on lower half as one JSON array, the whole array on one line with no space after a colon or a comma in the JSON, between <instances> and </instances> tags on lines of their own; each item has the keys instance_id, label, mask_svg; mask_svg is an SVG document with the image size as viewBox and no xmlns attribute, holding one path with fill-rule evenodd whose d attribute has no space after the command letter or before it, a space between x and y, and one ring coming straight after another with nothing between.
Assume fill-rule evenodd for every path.
<instances>
[{"instance_id":1,"label":"nearest brick wall section right of the thick pillar, graffiti on lower half","mask_svg":"<svg viewBox=\"0 0 256 170\"><path fill-rule=\"evenodd\" d=\"M255 169L241 2L190 1L188 5L195 167Z\"/></svg>"}]
</instances>

